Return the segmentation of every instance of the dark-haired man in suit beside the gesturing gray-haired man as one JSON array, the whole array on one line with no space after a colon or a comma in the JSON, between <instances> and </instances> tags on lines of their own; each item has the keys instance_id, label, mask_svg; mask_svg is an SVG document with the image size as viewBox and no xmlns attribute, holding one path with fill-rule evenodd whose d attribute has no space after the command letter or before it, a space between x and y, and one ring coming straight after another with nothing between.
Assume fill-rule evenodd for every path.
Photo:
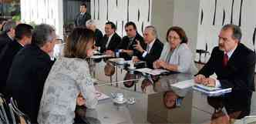
<instances>
[{"instance_id":1,"label":"dark-haired man in suit beside the gesturing gray-haired man","mask_svg":"<svg viewBox=\"0 0 256 124\"><path fill-rule=\"evenodd\" d=\"M132 56L136 55L136 52L138 52L133 46L137 44L136 40L140 42L143 49L146 49L146 44L143 37L137 32L134 22L127 22L125 30L127 35L123 37L115 52L108 54L130 60L132 59Z\"/></svg>"}]
</instances>

